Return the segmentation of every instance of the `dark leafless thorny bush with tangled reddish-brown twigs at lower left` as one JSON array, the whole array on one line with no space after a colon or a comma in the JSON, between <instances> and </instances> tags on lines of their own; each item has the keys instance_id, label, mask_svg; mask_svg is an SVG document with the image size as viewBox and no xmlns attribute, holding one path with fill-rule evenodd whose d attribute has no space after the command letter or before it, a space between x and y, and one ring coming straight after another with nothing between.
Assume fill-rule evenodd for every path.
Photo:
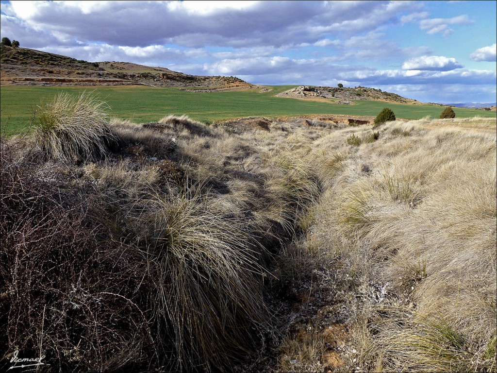
<instances>
[{"instance_id":1,"label":"dark leafless thorny bush with tangled reddish-brown twigs at lower left","mask_svg":"<svg viewBox=\"0 0 497 373\"><path fill-rule=\"evenodd\" d=\"M139 368L153 342L136 303L140 262L88 224L87 201L61 182L56 165L43 171L38 154L15 152L2 141L2 358L18 350L45 355L44 370Z\"/></svg>"}]
</instances>

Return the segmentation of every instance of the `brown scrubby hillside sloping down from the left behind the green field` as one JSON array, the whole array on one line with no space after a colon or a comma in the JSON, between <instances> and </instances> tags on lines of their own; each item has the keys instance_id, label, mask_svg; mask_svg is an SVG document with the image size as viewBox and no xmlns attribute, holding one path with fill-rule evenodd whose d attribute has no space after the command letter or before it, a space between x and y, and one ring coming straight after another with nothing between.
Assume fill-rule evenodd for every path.
<instances>
[{"instance_id":1,"label":"brown scrubby hillside sloping down from the left behind the green field","mask_svg":"<svg viewBox=\"0 0 497 373\"><path fill-rule=\"evenodd\" d=\"M198 76L127 62L87 62L29 48L1 46L1 85L250 88L235 77Z\"/></svg>"}]
</instances>

